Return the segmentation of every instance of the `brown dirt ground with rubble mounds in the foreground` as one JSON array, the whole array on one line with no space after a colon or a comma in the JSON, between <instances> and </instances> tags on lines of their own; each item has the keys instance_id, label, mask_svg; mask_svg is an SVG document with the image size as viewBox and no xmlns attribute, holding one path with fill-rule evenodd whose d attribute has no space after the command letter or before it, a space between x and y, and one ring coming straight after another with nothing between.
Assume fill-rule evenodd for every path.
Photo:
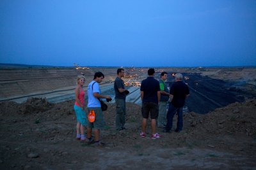
<instances>
[{"instance_id":1,"label":"brown dirt ground with rubble mounds in the foreground","mask_svg":"<svg viewBox=\"0 0 256 170\"><path fill-rule=\"evenodd\" d=\"M0 103L0 169L256 169L256 99L187 113L182 132L157 129L159 139L150 138L149 124L140 137L140 106L132 103L127 129L116 131L115 104L108 104L104 147L76 141L73 106L40 98Z\"/></svg>"}]
</instances>

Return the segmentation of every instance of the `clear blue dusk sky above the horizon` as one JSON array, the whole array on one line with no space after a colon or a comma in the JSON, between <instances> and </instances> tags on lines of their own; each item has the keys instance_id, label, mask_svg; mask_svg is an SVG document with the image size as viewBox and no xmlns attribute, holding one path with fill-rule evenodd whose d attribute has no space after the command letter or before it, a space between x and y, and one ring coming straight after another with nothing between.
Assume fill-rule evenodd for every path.
<instances>
[{"instance_id":1,"label":"clear blue dusk sky above the horizon","mask_svg":"<svg viewBox=\"0 0 256 170\"><path fill-rule=\"evenodd\" d=\"M256 66L256 1L0 1L0 62Z\"/></svg>"}]
</instances>

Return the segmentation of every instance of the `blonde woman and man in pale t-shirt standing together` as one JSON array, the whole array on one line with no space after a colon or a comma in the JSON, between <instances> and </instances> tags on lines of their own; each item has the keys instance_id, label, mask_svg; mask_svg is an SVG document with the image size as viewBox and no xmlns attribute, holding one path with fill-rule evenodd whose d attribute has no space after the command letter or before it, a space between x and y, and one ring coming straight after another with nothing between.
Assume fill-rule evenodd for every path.
<instances>
[{"instance_id":1,"label":"blonde woman and man in pale t-shirt standing together","mask_svg":"<svg viewBox=\"0 0 256 170\"><path fill-rule=\"evenodd\" d=\"M88 112L84 109L84 90L83 85L85 78L84 76L77 76L77 87L75 90L75 99L76 103L74 104L74 110L77 117L76 125L76 138L81 140L81 142L93 143L94 145L102 146L104 143L100 142L100 129L103 129L105 126L103 113L100 107L100 100L102 98L111 99L110 96L103 96L100 94L99 84L104 79L104 74L97 72L94 74L93 81L88 85L87 94L88 94ZM95 112L95 121L89 122L88 113L90 111ZM87 136L84 134L84 129L87 127ZM94 140L92 139L92 129L94 129Z\"/></svg>"}]
</instances>

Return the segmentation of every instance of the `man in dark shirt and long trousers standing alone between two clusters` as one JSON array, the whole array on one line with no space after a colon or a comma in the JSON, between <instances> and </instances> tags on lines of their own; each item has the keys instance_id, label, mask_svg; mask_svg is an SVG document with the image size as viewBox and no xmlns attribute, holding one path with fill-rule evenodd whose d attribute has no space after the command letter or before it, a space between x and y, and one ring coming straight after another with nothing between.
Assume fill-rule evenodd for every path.
<instances>
[{"instance_id":1,"label":"man in dark shirt and long trousers standing alone between two clusters","mask_svg":"<svg viewBox=\"0 0 256 170\"><path fill-rule=\"evenodd\" d=\"M126 118L126 104L125 98L126 95L129 94L128 90L124 89L124 81L122 80L124 77L124 69L117 69L117 77L114 83L115 89L115 102L116 102L116 130L122 131L125 129L125 118Z\"/></svg>"}]
</instances>

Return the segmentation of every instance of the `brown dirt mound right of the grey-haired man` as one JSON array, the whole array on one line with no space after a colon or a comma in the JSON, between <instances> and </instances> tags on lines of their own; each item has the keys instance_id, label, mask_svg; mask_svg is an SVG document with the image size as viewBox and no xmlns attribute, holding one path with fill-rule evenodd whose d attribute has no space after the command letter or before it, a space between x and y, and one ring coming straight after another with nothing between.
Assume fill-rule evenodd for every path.
<instances>
[{"instance_id":1,"label":"brown dirt mound right of the grey-haired man","mask_svg":"<svg viewBox=\"0 0 256 170\"><path fill-rule=\"evenodd\" d=\"M214 134L234 134L256 136L256 100L245 103L233 103L218 108L207 115L190 113L187 117L195 131L214 132ZM191 121L193 117L196 120Z\"/></svg>"}]
</instances>

